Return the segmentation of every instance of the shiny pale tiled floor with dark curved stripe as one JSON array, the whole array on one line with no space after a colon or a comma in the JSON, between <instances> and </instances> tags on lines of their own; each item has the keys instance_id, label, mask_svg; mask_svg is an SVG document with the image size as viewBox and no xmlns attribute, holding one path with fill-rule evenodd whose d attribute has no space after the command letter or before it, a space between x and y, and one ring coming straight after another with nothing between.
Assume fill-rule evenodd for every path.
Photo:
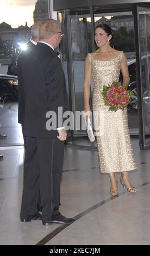
<instances>
[{"instance_id":1,"label":"shiny pale tiled floor with dark curved stripe","mask_svg":"<svg viewBox=\"0 0 150 256\"><path fill-rule=\"evenodd\" d=\"M150 149L140 151L135 138L132 144L138 170L130 178L138 192L123 193L120 184L113 199L97 151L66 146L60 211L76 221L48 227L20 222L24 149L1 149L0 245L150 245Z\"/></svg>"}]
</instances>

